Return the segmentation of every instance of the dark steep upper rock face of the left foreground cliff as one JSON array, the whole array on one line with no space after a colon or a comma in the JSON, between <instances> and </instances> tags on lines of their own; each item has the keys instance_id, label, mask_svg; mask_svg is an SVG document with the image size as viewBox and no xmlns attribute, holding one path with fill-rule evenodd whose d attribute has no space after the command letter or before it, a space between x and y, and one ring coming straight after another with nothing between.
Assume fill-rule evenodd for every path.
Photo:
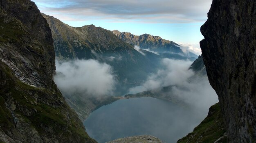
<instances>
[{"instance_id":1,"label":"dark steep upper rock face of the left foreground cliff","mask_svg":"<svg viewBox=\"0 0 256 143\"><path fill-rule=\"evenodd\" d=\"M49 87L55 72L53 40L36 5L29 0L1 0L0 17L2 61L9 64L23 82Z\"/></svg>"}]
</instances>

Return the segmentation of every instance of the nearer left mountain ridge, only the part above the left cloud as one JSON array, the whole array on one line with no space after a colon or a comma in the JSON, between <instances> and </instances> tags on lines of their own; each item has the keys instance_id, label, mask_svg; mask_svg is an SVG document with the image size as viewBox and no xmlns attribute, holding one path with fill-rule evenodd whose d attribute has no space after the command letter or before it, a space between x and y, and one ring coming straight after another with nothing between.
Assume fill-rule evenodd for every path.
<instances>
[{"instance_id":1,"label":"nearer left mountain ridge, only the part above the left cloud","mask_svg":"<svg viewBox=\"0 0 256 143\"><path fill-rule=\"evenodd\" d=\"M94 25L75 28L52 16L43 16L52 30L58 59L96 59L105 62L113 67L119 81L126 85L140 84L159 66L157 55L146 53L144 56L109 30Z\"/></svg>"}]
</instances>

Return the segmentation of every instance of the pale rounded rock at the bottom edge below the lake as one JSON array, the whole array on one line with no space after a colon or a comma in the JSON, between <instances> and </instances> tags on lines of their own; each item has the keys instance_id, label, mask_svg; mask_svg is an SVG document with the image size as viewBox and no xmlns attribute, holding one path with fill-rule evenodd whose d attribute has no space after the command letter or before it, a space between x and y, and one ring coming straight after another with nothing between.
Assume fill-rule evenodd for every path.
<instances>
[{"instance_id":1,"label":"pale rounded rock at the bottom edge below the lake","mask_svg":"<svg viewBox=\"0 0 256 143\"><path fill-rule=\"evenodd\" d=\"M164 143L164 142L150 135L142 135L142 136L116 139L114 141L109 141L107 143Z\"/></svg>"}]
</instances>

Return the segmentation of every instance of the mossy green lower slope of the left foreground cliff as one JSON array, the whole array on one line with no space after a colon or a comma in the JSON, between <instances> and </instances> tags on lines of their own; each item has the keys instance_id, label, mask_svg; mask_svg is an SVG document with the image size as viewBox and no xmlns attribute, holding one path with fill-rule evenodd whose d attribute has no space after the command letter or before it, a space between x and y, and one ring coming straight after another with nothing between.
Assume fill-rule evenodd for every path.
<instances>
[{"instance_id":1,"label":"mossy green lower slope of the left foreground cliff","mask_svg":"<svg viewBox=\"0 0 256 143\"><path fill-rule=\"evenodd\" d=\"M36 129L40 137L95 142L85 132L74 111L63 102L60 92L53 93L49 89L20 82L2 62L0 73L4 83L0 85L0 127L4 132L17 132L17 123L28 124ZM9 108L7 102L12 103Z\"/></svg>"}]
</instances>

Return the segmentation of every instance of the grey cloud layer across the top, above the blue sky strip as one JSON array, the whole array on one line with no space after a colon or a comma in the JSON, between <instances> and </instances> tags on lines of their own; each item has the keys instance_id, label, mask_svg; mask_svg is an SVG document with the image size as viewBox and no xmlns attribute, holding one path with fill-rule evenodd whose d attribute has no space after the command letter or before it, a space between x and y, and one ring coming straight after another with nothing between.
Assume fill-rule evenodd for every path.
<instances>
[{"instance_id":1,"label":"grey cloud layer across the top, above the blue sky strip","mask_svg":"<svg viewBox=\"0 0 256 143\"><path fill-rule=\"evenodd\" d=\"M61 20L123 22L203 22L211 0L34 0L39 9Z\"/></svg>"}]
</instances>

